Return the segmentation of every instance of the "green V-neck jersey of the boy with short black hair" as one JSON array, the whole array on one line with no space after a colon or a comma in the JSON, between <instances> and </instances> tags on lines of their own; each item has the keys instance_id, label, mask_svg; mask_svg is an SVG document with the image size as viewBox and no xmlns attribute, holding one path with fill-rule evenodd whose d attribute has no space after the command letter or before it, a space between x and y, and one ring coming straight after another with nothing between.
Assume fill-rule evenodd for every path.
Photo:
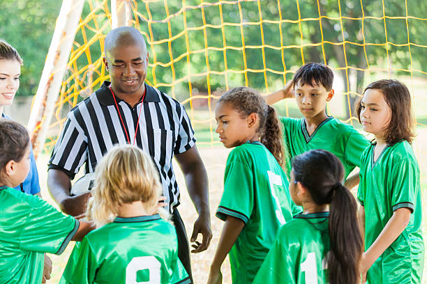
<instances>
[{"instance_id":1,"label":"green V-neck jersey of the boy with short black hair","mask_svg":"<svg viewBox=\"0 0 427 284\"><path fill-rule=\"evenodd\" d=\"M369 145L368 139L352 125L341 123L329 117L317 126L313 134L308 135L305 118L281 117L283 141L287 150L287 174L291 171L293 157L315 149L328 150L340 159L344 166L344 180L357 166L360 167L361 153Z\"/></svg>"}]
</instances>

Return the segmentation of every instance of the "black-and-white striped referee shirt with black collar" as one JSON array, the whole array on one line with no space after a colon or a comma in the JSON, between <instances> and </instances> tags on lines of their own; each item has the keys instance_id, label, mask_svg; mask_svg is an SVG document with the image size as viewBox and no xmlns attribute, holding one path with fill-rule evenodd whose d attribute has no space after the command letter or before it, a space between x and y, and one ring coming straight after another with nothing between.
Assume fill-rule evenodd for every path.
<instances>
[{"instance_id":1,"label":"black-and-white striped referee shirt with black collar","mask_svg":"<svg viewBox=\"0 0 427 284\"><path fill-rule=\"evenodd\" d=\"M179 188L172 168L172 157L195 145L190 119L179 102L145 84L144 102L135 107L116 97L122 124L109 85L110 82L105 81L95 93L68 113L49 168L59 169L73 179L80 166L86 163L85 173L92 173L108 149L115 144L127 143L123 124L126 125L130 143L133 143L140 115L135 144L147 152L156 164L163 194L172 213L179 205Z\"/></svg>"}]
</instances>

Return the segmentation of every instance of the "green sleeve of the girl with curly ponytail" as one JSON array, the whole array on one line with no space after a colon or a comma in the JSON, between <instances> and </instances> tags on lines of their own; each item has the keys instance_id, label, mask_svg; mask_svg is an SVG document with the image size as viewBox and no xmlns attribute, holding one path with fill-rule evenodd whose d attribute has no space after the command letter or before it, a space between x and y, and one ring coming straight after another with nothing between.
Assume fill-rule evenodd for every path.
<instances>
[{"instance_id":1,"label":"green sleeve of the girl with curly ponytail","mask_svg":"<svg viewBox=\"0 0 427 284\"><path fill-rule=\"evenodd\" d=\"M253 173L241 161L227 162L223 197L216 211L216 216L225 221L233 216L248 223L254 206Z\"/></svg>"}]
</instances>

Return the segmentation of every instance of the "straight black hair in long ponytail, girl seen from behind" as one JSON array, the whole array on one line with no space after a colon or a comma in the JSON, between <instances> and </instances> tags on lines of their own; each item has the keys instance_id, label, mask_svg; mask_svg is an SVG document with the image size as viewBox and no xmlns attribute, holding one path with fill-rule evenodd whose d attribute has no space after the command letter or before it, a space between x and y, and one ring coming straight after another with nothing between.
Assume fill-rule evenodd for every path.
<instances>
[{"instance_id":1,"label":"straight black hair in long ponytail, girl seen from behind","mask_svg":"<svg viewBox=\"0 0 427 284\"><path fill-rule=\"evenodd\" d=\"M343 164L331 152L310 150L292 159L292 173L317 205L330 204L329 283L359 283L363 241L357 223L356 200L341 183Z\"/></svg>"}]
</instances>

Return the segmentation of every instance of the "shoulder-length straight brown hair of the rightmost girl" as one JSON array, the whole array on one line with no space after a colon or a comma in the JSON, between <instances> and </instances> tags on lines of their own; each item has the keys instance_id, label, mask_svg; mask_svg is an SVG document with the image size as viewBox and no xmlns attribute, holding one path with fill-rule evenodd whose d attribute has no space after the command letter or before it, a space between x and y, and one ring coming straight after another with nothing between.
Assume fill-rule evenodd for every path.
<instances>
[{"instance_id":1,"label":"shoulder-length straight brown hair of the rightmost girl","mask_svg":"<svg viewBox=\"0 0 427 284\"><path fill-rule=\"evenodd\" d=\"M414 134L414 117L412 115L411 95L405 84L395 79L382 79L370 83L364 90L378 89L384 95L391 110L391 119L385 137L387 145L394 145L399 141L406 140L412 143ZM357 104L357 118L360 120L361 100Z\"/></svg>"}]
</instances>

